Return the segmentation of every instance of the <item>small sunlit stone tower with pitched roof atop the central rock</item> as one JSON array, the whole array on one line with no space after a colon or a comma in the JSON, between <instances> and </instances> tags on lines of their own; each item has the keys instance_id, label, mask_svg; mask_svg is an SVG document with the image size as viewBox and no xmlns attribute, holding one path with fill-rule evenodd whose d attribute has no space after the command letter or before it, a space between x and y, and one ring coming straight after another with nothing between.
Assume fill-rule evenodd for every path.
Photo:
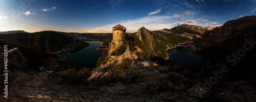
<instances>
[{"instance_id":1,"label":"small sunlit stone tower with pitched roof atop the central rock","mask_svg":"<svg viewBox=\"0 0 256 102\"><path fill-rule=\"evenodd\" d=\"M114 26L113 27L113 41L114 42L123 41L126 37L125 30L126 30L126 28L120 24Z\"/></svg>"}]
</instances>

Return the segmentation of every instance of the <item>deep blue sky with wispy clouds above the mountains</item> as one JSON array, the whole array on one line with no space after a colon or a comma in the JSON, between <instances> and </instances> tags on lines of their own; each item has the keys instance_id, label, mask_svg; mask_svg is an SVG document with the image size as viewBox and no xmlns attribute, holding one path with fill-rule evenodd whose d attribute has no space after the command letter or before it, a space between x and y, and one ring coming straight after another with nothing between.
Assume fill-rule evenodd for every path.
<instances>
[{"instance_id":1,"label":"deep blue sky with wispy clouds above the mountains","mask_svg":"<svg viewBox=\"0 0 256 102\"><path fill-rule=\"evenodd\" d=\"M181 24L213 29L256 15L255 0L0 0L0 31L126 32L170 29Z\"/></svg>"}]
</instances>

